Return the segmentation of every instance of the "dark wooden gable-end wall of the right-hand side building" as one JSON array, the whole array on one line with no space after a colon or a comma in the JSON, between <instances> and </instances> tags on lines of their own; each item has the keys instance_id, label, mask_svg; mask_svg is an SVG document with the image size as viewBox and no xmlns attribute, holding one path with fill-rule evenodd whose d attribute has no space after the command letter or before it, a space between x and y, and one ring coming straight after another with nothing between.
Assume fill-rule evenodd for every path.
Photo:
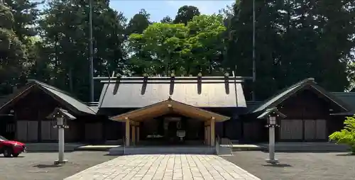
<instances>
[{"instance_id":1,"label":"dark wooden gable-end wall of the right-hand side building","mask_svg":"<svg viewBox=\"0 0 355 180\"><path fill-rule=\"evenodd\" d=\"M331 111L332 109L332 111ZM336 103L314 89L305 89L278 106L287 118L278 120L280 141L327 141L330 113L340 112Z\"/></svg>"}]
</instances>

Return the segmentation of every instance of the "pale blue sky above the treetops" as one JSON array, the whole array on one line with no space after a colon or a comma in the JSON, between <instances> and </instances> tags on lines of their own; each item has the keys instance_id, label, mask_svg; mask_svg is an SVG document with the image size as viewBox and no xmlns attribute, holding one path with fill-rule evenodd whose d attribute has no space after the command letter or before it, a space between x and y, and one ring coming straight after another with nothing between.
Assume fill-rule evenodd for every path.
<instances>
[{"instance_id":1,"label":"pale blue sky above the treetops","mask_svg":"<svg viewBox=\"0 0 355 180\"><path fill-rule=\"evenodd\" d=\"M111 0L111 8L121 11L128 20L138 13L140 9L146 9L151 14L151 21L160 21L165 16L175 18L180 6L196 6L201 13L212 14L218 13L220 9L224 9L227 5L231 5L231 0L215 0L215 1L139 1L139 0Z\"/></svg>"}]
</instances>

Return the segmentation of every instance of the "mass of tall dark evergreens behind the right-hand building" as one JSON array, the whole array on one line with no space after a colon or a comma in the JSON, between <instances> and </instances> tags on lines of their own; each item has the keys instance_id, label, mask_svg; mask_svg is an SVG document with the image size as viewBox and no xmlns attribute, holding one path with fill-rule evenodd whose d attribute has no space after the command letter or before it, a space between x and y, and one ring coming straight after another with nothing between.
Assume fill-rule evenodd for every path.
<instances>
[{"instance_id":1,"label":"mass of tall dark evergreens behind the right-hand building","mask_svg":"<svg viewBox=\"0 0 355 180\"><path fill-rule=\"evenodd\" d=\"M259 100L305 79L329 91L349 86L354 1L256 1L256 84ZM226 14L226 61L240 76L253 67L253 2L236 0ZM230 16L232 14L232 16ZM249 94L249 91L246 91Z\"/></svg>"}]
</instances>

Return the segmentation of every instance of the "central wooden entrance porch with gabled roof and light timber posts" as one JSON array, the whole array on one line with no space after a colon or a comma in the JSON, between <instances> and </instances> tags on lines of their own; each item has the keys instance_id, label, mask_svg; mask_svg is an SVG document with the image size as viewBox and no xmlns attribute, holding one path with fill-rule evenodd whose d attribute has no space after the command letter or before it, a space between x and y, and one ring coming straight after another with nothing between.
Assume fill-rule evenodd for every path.
<instances>
[{"instance_id":1,"label":"central wooden entrance porch with gabled roof and light timber posts","mask_svg":"<svg viewBox=\"0 0 355 180\"><path fill-rule=\"evenodd\" d=\"M125 123L125 146L215 145L215 123L229 117L172 99L155 103L111 120Z\"/></svg>"}]
</instances>

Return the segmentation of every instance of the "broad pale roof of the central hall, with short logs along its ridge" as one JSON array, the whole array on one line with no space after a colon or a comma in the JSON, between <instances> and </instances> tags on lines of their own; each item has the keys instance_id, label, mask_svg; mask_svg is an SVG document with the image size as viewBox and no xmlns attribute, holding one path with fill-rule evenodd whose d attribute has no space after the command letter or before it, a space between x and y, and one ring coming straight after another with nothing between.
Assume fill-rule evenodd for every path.
<instances>
[{"instance_id":1,"label":"broad pale roof of the central hall, with short logs along its ridge","mask_svg":"<svg viewBox=\"0 0 355 180\"><path fill-rule=\"evenodd\" d=\"M243 79L234 77L120 77L102 82L99 108L143 108L169 96L200 108L246 107Z\"/></svg>"}]
</instances>

